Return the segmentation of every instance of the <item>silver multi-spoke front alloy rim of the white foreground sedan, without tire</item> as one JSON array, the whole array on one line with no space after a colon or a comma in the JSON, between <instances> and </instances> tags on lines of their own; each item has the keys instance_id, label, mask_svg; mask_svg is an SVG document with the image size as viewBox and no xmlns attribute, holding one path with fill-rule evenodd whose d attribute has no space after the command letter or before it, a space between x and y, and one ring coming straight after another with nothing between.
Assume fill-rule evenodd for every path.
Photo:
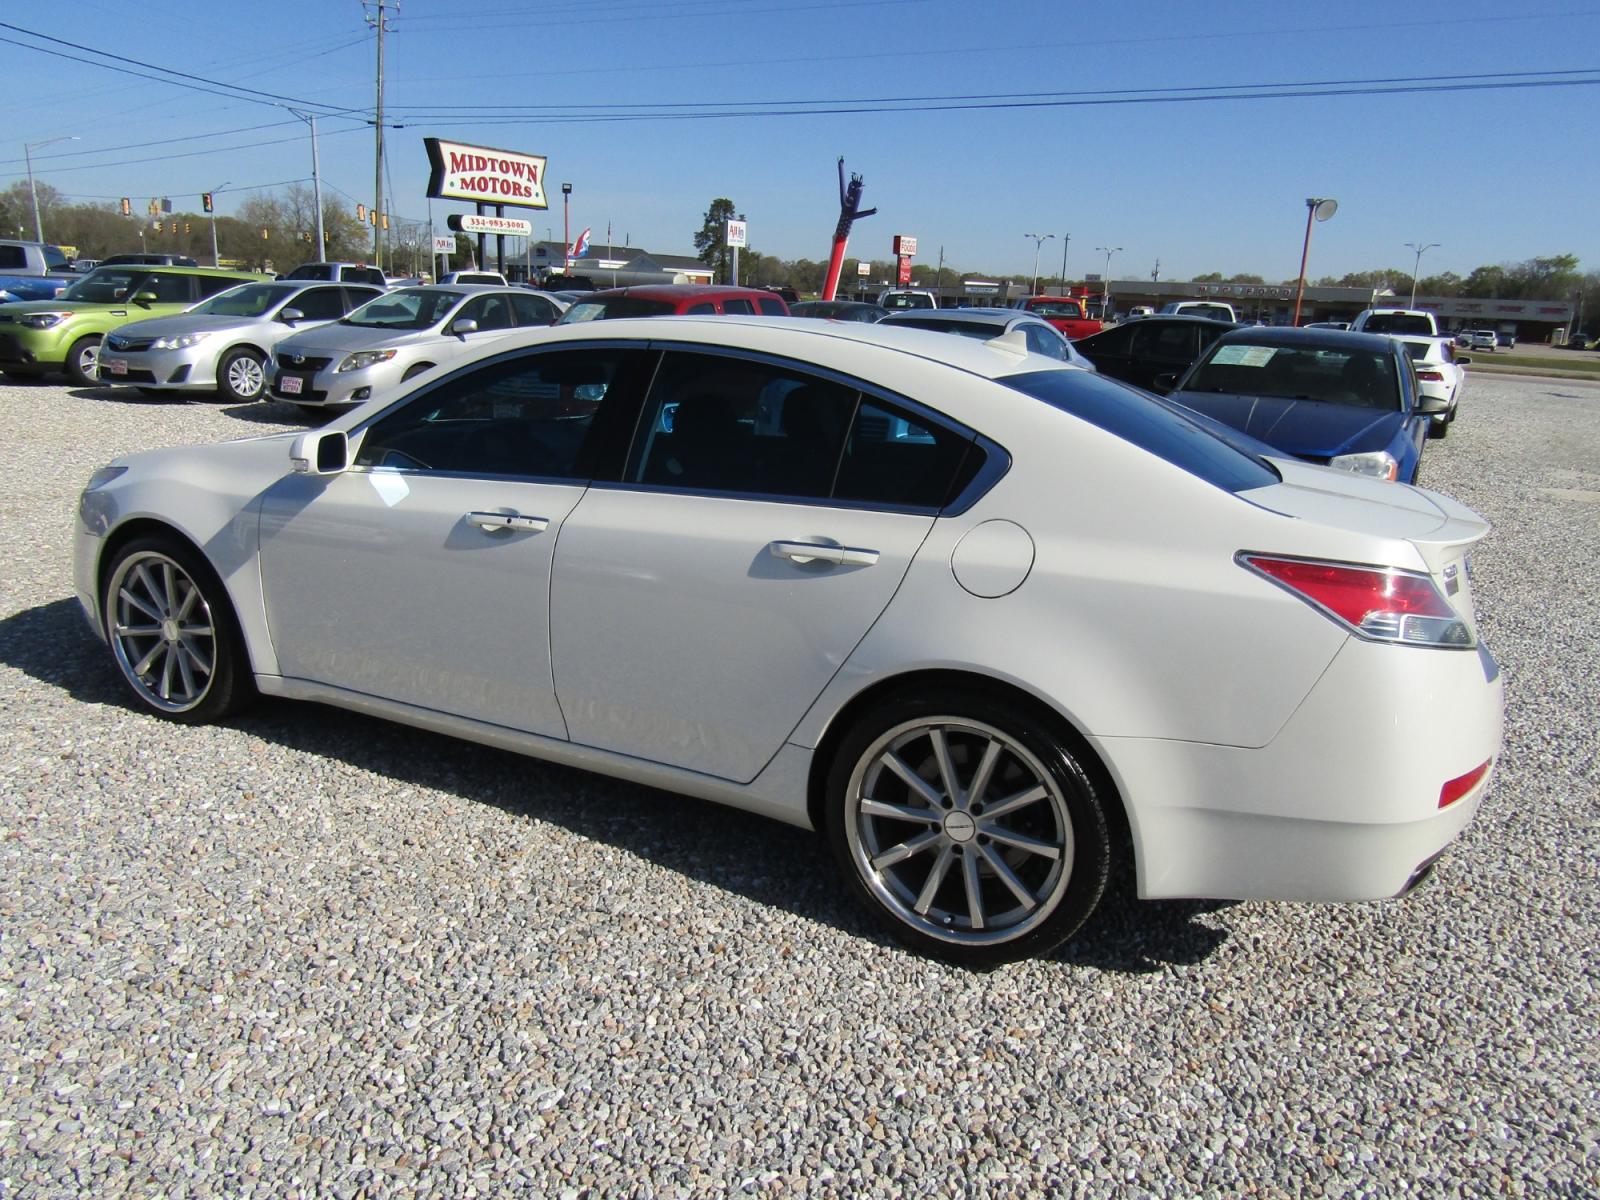
<instances>
[{"instance_id":1,"label":"silver multi-spoke front alloy rim of the white foreground sedan, without tire","mask_svg":"<svg viewBox=\"0 0 1600 1200\"><path fill-rule=\"evenodd\" d=\"M187 712L211 690L216 627L189 573L165 554L128 555L107 594L117 666L163 712Z\"/></svg>"}]
</instances>

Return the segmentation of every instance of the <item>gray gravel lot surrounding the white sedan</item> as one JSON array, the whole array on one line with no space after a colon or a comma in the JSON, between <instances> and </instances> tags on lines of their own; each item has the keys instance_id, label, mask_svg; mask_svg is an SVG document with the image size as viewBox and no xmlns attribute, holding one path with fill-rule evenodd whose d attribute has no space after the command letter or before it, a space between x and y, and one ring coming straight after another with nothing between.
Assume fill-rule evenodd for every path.
<instances>
[{"instance_id":1,"label":"gray gravel lot surrounding the white sedan","mask_svg":"<svg viewBox=\"0 0 1600 1200\"><path fill-rule=\"evenodd\" d=\"M1475 378L1485 810L1403 902L883 942L810 835L312 706L189 730L70 598L117 453L270 406L0 387L0 1197L1600 1195L1600 387Z\"/></svg>"}]
</instances>

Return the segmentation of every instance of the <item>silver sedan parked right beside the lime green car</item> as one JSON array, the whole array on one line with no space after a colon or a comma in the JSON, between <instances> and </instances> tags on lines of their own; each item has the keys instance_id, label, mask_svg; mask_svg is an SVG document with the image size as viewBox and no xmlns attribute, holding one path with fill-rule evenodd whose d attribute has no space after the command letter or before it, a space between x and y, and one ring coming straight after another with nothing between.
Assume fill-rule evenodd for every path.
<instances>
[{"instance_id":1,"label":"silver sedan parked right beside the lime green car","mask_svg":"<svg viewBox=\"0 0 1600 1200\"><path fill-rule=\"evenodd\" d=\"M141 392L219 392L259 400L267 358L291 333L338 320L382 296L366 283L243 283L174 317L123 325L99 354L104 384Z\"/></svg>"}]
</instances>

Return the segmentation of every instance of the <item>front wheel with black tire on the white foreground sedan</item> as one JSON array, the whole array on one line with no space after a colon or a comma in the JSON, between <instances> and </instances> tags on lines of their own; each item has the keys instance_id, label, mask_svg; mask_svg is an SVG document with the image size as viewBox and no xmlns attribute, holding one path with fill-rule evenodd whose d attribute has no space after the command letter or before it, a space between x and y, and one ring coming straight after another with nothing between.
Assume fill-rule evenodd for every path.
<instances>
[{"instance_id":1,"label":"front wheel with black tire on the white foreground sedan","mask_svg":"<svg viewBox=\"0 0 1600 1200\"><path fill-rule=\"evenodd\" d=\"M256 698L227 589L181 539L152 534L120 547L102 576L102 613L112 661L142 709L206 725Z\"/></svg>"}]
</instances>

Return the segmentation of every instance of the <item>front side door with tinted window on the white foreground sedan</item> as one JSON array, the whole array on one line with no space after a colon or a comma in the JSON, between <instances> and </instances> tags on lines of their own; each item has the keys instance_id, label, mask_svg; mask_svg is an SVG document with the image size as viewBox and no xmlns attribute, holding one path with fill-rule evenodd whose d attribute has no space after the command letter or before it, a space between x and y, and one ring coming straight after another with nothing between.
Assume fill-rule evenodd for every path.
<instances>
[{"instance_id":1,"label":"front side door with tinted window on the white foreground sedan","mask_svg":"<svg viewBox=\"0 0 1600 1200\"><path fill-rule=\"evenodd\" d=\"M613 384L642 357L498 358L354 430L350 470L280 480L261 520L280 672L563 738L550 557Z\"/></svg>"}]
</instances>

